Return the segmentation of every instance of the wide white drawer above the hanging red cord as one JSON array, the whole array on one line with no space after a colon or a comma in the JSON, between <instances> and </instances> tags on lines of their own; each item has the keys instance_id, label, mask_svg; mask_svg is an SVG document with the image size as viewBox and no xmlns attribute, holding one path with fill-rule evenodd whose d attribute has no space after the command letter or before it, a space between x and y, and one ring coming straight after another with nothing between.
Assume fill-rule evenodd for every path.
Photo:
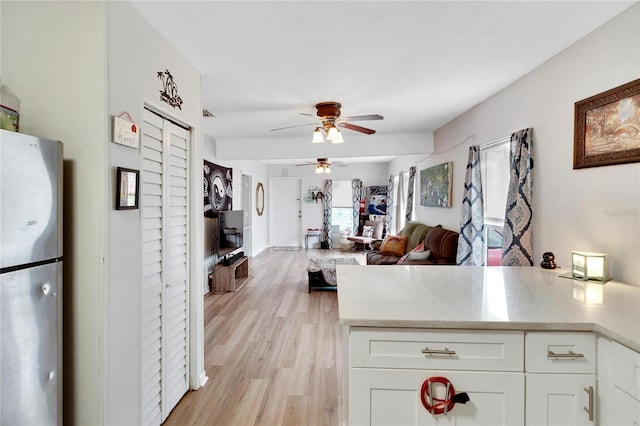
<instances>
[{"instance_id":1,"label":"wide white drawer above the hanging red cord","mask_svg":"<svg viewBox=\"0 0 640 426\"><path fill-rule=\"evenodd\" d=\"M352 328L351 367L522 371L521 331Z\"/></svg>"}]
</instances>

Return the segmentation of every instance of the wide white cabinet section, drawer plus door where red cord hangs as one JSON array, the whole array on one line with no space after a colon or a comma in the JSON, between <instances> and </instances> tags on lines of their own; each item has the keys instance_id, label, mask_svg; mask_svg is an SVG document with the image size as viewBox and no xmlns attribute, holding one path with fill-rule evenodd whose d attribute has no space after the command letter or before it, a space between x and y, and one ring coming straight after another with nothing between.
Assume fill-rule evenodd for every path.
<instances>
[{"instance_id":1,"label":"wide white cabinet section, drawer plus door where red cord hangs","mask_svg":"<svg viewBox=\"0 0 640 426\"><path fill-rule=\"evenodd\" d=\"M350 425L524 423L521 331L355 327L345 334ZM449 379L469 402L446 416L429 413L420 392L434 376Z\"/></svg>"}]
</instances>

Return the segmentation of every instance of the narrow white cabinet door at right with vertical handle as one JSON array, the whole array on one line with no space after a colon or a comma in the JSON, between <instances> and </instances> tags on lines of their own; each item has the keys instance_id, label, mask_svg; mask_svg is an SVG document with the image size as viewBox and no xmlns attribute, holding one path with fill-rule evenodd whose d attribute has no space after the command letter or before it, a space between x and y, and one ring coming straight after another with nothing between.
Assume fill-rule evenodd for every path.
<instances>
[{"instance_id":1,"label":"narrow white cabinet door at right with vertical handle","mask_svg":"<svg viewBox=\"0 0 640 426\"><path fill-rule=\"evenodd\" d=\"M595 376L591 374L527 374L526 424L586 425L595 407ZM585 389L593 388L591 396Z\"/></svg>"}]
</instances>

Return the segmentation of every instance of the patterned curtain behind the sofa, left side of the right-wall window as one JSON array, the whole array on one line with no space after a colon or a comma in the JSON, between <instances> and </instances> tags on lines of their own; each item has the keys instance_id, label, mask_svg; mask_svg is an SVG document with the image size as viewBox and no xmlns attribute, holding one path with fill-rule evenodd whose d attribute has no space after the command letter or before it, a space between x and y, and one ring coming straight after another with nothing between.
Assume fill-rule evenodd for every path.
<instances>
[{"instance_id":1,"label":"patterned curtain behind the sofa, left side of the right-wall window","mask_svg":"<svg viewBox=\"0 0 640 426\"><path fill-rule=\"evenodd\" d=\"M456 264L484 266L484 205L478 145L469 148Z\"/></svg>"}]
</instances>

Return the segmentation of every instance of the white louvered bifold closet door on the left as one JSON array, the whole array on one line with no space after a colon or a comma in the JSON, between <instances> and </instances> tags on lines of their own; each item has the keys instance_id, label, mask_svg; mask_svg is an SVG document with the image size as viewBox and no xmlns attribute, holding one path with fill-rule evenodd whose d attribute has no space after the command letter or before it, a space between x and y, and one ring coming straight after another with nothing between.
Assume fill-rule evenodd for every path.
<instances>
[{"instance_id":1,"label":"white louvered bifold closet door on the left","mask_svg":"<svg viewBox=\"0 0 640 426\"><path fill-rule=\"evenodd\" d=\"M141 423L160 425L188 390L189 132L144 110Z\"/></svg>"}]
</instances>

